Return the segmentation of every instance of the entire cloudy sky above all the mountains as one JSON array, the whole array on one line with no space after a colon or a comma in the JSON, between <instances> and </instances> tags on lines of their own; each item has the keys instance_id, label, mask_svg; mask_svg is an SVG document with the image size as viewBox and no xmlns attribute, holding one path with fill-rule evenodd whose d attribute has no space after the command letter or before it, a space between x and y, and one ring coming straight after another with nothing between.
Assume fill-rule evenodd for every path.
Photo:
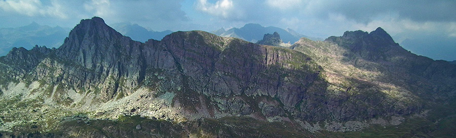
<instances>
[{"instance_id":1,"label":"entire cloudy sky above all the mountains","mask_svg":"<svg viewBox=\"0 0 456 138\"><path fill-rule=\"evenodd\" d=\"M421 47L450 51L434 52L435 59L456 60L455 7L453 0L0 0L0 28L32 22L72 28L94 16L108 25L133 23L155 31L213 31L257 23L318 38L382 27L397 43L431 41Z\"/></svg>"}]
</instances>

